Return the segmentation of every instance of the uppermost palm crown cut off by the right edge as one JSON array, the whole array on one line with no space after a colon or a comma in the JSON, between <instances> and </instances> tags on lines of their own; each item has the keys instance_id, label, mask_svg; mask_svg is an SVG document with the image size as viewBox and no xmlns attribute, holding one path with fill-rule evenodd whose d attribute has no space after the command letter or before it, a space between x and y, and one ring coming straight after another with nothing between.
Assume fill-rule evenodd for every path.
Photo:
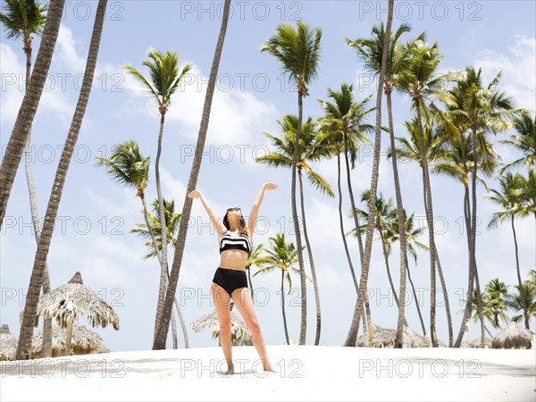
<instances>
[{"instance_id":1,"label":"uppermost palm crown cut off by the right edge","mask_svg":"<svg viewBox=\"0 0 536 402\"><path fill-rule=\"evenodd\" d=\"M501 174L520 164L529 170L536 164L536 116L531 118L529 113L522 113L520 116L516 116L513 122L517 134L513 134L510 139L504 139L500 142L517 148L523 153L523 156L501 168L498 171Z\"/></svg>"}]
</instances>

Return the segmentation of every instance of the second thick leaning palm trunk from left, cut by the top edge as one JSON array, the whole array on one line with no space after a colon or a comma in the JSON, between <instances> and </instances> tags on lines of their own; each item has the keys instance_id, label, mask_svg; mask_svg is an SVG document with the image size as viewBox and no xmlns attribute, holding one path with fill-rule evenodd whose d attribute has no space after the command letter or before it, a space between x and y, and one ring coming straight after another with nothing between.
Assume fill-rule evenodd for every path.
<instances>
[{"instance_id":1,"label":"second thick leaning palm trunk from left, cut by the top edge","mask_svg":"<svg viewBox=\"0 0 536 402\"><path fill-rule=\"evenodd\" d=\"M93 25L93 33L89 43L86 71L84 71L84 79L82 80L82 86L80 88L80 96L74 109L71 127L69 128L69 133L67 134L67 138L65 140L60 163L58 164L54 177L54 185L50 194L50 199L48 200L48 205L46 207L45 223L43 224L43 231L41 232L41 237L39 238L38 250L36 252L36 258L29 280L28 297L26 298L26 305L24 306L24 313L22 316L21 332L16 355L18 358L22 358L22 356L25 355L25 351L31 346L33 322L37 311L38 295L39 289L41 288L43 272L45 271L46 267L46 256L48 255L50 242L52 240L54 222L60 206L60 201L62 199L63 185L65 184L65 178L67 177L67 172L69 171L69 163L71 163L72 152L76 146L76 141L80 133L80 126L88 105L91 83L93 82L93 77L95 75L96 58L98 55L98 49L100 46L101 35L105 22L106 4L107 0L99 0L96 7L95 23ZM50 7L52 10L52 4ZM43 41L45 41L45 33L43 34ZM34 72L32 73L30 87L34 82L33 76L36 73L36 70L37 63ZM28 90L30 91L30 88ZM26 132L28 133L28 130L26 130Z\"/></svg>"}]
</instances>

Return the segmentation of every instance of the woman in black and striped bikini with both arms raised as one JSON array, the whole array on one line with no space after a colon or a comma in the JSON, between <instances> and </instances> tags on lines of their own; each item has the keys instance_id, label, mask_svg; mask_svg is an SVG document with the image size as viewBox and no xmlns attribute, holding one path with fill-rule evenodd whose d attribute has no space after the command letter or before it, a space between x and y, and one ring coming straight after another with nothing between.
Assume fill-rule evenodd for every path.
<instances>
[{"instance_id":1,"label":"woman in black and striped bikini with both arms raised","mask_svg":"<svg viewBox=\"0 0 536 402\"><path fill-rule=\"evenodd\" d=\"M213 283L210 291L214 299L214 306L220 322L220 341L222 343L223 355L227 361L227 374L234 373L234 364L231 357L230 341L230 299L233 299L235 306L246 322L247 329L251 332L253 345L255 346L266 372L277 373L272 367L266 348L264 338L259 327L259 322L255 314L251 293L247 288L246 264L249 256L249 248L255 232L255 224L259 206L263 202L264 191L278 188L277 184L264 183L259 192L249 219L247 222L242 216L238 206L228 208L223 222L220 222L214 214L214 210L207 203L201 191L194 190L188 194L190 198L200 198L214 229L218 233L218 243L220 245L220 266L214 273Z\"/></svg>"}]
</instances>

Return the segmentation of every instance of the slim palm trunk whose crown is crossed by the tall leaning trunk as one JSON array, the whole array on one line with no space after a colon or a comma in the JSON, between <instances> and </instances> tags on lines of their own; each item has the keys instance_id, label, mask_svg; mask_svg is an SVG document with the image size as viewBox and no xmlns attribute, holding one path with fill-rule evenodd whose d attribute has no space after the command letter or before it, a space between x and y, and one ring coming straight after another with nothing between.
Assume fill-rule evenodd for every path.
<instances>
[{"instance_id":1,"label":"slim palm trunk whose crown is crossed by the tall leaning trunk","mask_svg":"<svg viewBox=\"0 0 536 402\"><path fill-rule=\"evenodd\" d=\"M400 190L400 180L398 179L398 163L397 163L397 147L395 147L395 132L393 124L393 113L391 105L391 91L385 91L387 97L387 114L389 118L389 138L391 146L391 158L393 164L393 177L395 180L395 195L397 198L397 215L398 215L398 236L400 240L400 298L402 303L398 304L398 323L397 323L397 338L395 339L395 348L402 348L404 345L404 322L406 312L406 271L407 266L407 246L406 246L406 216L404 214L404 205L402 203L402 192ZM409 272L407 272L409 276ZM417 303L417 309L419 305ZM421 312L419 311L419 315ZM421 322L423 321L421 317Z\"/></svg>"}]
</instances>

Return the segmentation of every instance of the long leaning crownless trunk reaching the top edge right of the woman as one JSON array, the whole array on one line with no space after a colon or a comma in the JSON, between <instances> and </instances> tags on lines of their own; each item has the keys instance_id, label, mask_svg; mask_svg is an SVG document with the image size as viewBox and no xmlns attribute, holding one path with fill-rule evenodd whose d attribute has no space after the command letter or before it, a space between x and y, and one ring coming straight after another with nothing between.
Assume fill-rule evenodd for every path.
<instances>
[{"instance_id":1,"label":"long leaning crownless trunk reaching the top edge right of the woman","mask_svg":"<svg viewBox=\"0 0 536 402\"><path fill-rule=\"evenodd\" d=\"M364 299L366 297L366 285L368 282L369 267L371 264L371 252L373 249L373 231L374 220L376 216L376 191L378 189L378 176L380 171L380 149L381 149L381 94L383 89L383 81L385 80L385 70L387 68L387 54L389 52L390 28L393 21L394 0L389 0L389 11L387 16L387 26L385 29L385 38L383 41L383 52L381 55L381 71L378 78L378 91L376 95L376 133L374 137L374 156L373 156L373 173L371 178L371 195L369 197L369 217L366 227L366 237L364 243L364 260L361 269L361 279L359 282L359 295L357 297L356 306L352 323L348 331L348 336L345 341L345 346L355 347L357 331L359 331L359 319L363 311Z\"/></svg>"}]
</instances>

